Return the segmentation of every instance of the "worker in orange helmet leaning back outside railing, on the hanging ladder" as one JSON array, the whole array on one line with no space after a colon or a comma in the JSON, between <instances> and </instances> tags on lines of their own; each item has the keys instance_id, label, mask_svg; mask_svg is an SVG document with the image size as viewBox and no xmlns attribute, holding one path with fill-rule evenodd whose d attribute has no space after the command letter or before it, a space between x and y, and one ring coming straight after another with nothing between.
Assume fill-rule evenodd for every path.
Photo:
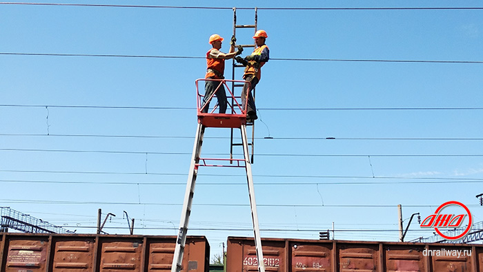
<instances>
[{"instance_id":1,"label":"worker in orange helmet leaning back outside railing, on the hanging ladder","mask_svg":"<svg viewBox=\"0 0 483 272\"><path fill-rule=\"evenodd\" d=\"M268 59L270 59L270 51L268 50L268 46L265 44L266 38L268 38L268 35L266 34L265 30L258 30L255 32L255 36L253 36L253 39L255 39L255 44L257 45L255 50L253 50L253 53L246 56L245 59L242 59L240 56L235 58L238 63L242 63L244 66L246 66L243 79L250 83L250 87L248 87L248 83L245 83L242 91L242 104L243 108L245 108L246 105L246 121L248 122L253 122L258 118L252 90L260 81L260 68L262 68ZM247 97L248 101L246 101Z\"/></svg>"}]
</instances>

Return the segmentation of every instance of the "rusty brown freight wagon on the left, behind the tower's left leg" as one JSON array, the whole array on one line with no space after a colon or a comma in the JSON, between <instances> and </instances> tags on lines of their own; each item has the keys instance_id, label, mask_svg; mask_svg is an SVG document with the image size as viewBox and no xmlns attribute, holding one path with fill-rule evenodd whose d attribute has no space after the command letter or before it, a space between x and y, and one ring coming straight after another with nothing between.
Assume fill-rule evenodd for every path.
<instances>
[{"instance_id":1,"label":"rusty brown freight wagon on the left, behind the tower's left leg","mask_svg":"<svg viewBox=\"0 0 483 272\"><path fill-rule=\"evenodd\" d=\"M0 233L0 272L171 271L176 236ZM188 236L183 272L208 272L210 246Z\"/></svg>"}]
</instances>

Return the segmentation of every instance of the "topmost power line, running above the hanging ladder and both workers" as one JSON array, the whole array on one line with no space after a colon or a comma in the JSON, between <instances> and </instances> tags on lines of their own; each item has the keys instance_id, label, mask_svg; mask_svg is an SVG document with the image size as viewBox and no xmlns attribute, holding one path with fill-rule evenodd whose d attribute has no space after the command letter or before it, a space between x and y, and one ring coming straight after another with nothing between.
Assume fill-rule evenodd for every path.
<instances>
[{"instance_id":1,"label":"topmost power line, running above the hanging ladder and both workers","mask_svg":"<svg viewBox=\"0 0 483 272\"><path fill-rule=\"evenodd\" d=\"M79 4L79 3L25 3L0 2L1 5L29 5L29 6L75 6L95 8L161 8L161 9L189 9L189 10L233 10L232 7L209 6L148 6L148 5L112 5L112 4ZM237 10L254 10L255 8L237 8ZM257 8L258 10L483 10L480 7L419 7L419 8Z\"/></svg>"}]
</instances>

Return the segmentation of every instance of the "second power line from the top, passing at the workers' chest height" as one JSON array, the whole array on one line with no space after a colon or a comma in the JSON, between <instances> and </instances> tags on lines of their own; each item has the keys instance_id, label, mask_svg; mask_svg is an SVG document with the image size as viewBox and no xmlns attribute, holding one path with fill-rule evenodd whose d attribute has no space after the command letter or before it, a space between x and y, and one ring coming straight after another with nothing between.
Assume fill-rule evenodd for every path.
<instances>
[{"instance_id":1,"label":"second power line from the top, passing at the workers' chest height","mask_svg":"<svg viewBox=\"0 0 483 272\"><path fill-rule=\"evenodd\" d=\"M0 52L6 56L88 56L108 58L142 58L142 59L206 59L205 56L154 56L128 54L55 54L55 53L13 53ZM340 62L382 62L382 63L466 63L482 64L483 61L426 61L426 60L390 60L390 59L300 59L300 58L272 58L270 61L340 61Z\"/></svg>"}]
</instances>

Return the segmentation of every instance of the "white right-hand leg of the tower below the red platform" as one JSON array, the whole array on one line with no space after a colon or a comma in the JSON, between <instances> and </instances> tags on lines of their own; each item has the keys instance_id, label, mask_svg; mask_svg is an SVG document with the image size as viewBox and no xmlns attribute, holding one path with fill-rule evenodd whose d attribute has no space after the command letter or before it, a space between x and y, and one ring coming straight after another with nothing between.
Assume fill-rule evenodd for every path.
<instances>
[{"instance_id":1,"label":"white right-hand leg of the tower below the red platform","mask_svg":"<svg viewBox=\"0 0 483 272\"><path fill-rule=\"evenodd\" d=\"M245 158L246 180L248 182L248 193L250 196L250 208L252 210L253 233L255 235L255 249L258 260L258 271L265 272L264 253L262 252L262 238L260 238L260 227L258 224L257 203L255 202L255 188L253 186L252 165L248 154L248 138L246 125L240 127L242 131L243 153Z\"/></svg>"}]
</instances>

